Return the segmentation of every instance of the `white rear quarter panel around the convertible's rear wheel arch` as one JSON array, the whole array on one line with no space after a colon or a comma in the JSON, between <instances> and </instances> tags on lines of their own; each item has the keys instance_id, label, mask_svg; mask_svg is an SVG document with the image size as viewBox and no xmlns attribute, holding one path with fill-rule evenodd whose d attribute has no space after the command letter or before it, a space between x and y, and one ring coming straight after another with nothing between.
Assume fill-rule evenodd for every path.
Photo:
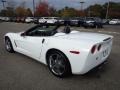
<instances>
[{"instance_id":1,"label":"white rear quarter panel around the convertible's rear wheel arch","mask_svg":"<svg viewBox=\"0 0 120 90\"><path fill-rule=\"evenodd\" d=\"M46 52L49 49L58 49L63 52L71 65L72 73L77 73L82 70L84 67L85 60L91 50L91 47L95 44L92 41L76 41L71 39L63 39L58 37L51 37L47 42L43 45L41 58L44 64L46 63ZM73 54L70 51L79 51L80 54Z\"/></svg>"}]
</instances>

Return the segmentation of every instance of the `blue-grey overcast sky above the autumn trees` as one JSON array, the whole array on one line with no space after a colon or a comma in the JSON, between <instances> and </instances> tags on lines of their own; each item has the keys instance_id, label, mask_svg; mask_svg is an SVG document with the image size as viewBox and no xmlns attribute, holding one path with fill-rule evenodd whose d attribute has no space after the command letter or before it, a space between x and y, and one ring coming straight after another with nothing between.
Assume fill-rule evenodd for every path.
<instances>
[{"instance_id":1,"label":"blue-grey overcast sky above the autumn trees","mask_svg":"<svg viewBox=\"0 0 120 90\"><path fill-rule=\"evenodd\" d=\"M1 1L1 0L0 0ZM6 0L8 1L8 0ZM26 6L32 8L32 1L33 0L14 0L16 1L17 5L19 5L21 2L26 1ZM40 0L35 0L35 3L37 4ZM42 0L44 1L44 0ZM45 0L48 1L50 5L54 6L57 9L61 9L65 6L73 7L73 8L80 8L80 1L84 1L83 7L86 8L89 5L93 4L104 4L105 2L108 2L109 0ZM110 0L114 2L120 2L120 0ZM0 8L2 8L2 3L0 2Z\"/></svg>"}]
</instances>

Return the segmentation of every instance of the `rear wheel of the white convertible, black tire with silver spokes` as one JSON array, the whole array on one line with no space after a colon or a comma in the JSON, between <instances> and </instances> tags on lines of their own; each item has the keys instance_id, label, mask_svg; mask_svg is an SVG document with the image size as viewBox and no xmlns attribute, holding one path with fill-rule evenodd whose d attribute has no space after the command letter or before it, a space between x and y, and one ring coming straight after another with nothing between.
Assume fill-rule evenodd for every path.
<instances>
[{"instance_id":1,"label":"rear wheel of the white convertible, black tire with silver spokes","mask_svg":"<svg viewBox=\"0 0 120 90\"><path fill-rule=\"evenodd\" d=\"M63 78L71 75L71 67L67 57L54 50L47 55L48 68L53 75Z\"/></svg>"}]
</instances>

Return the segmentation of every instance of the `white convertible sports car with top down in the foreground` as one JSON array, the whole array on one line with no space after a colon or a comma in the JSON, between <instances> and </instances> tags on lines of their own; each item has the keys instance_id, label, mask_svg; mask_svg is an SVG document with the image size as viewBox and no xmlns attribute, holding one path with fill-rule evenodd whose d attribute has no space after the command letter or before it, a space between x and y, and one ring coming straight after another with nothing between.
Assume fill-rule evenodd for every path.
<instances>
[{"instance_id":1,"label":"white convertible sports car with top down in the foreground","mask_svg":"<svg viewBox=\"0 0 120 90\"><path fill-rule=\"evenodd\" d=\"M70 30L69 26L37 25L25 32L7 33L8 52L19 52L48 66L58 77L85 74L106 61L113 36Z\"/></svg>"}]
</instances>

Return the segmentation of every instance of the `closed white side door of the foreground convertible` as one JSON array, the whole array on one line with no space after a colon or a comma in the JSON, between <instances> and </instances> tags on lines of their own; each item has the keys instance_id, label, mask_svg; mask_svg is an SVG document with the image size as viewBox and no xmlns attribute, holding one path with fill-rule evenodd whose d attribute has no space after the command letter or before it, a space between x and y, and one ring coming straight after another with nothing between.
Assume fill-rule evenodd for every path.
<instances>
[{"instance_id":1,"label":"closed white side door of the foreground convertible","mask_svg":"<svg viewBox=\"0 0 120 90\"><path fill-rule=\"evenodd\" d=\"M36 30L37 28L30 30L28 31L29 34L26 35L20 34L19 37L15 39L15 43L18 52L38 59L41 54L45 37L33 35Z\"/></svg>"}]
</instances>

